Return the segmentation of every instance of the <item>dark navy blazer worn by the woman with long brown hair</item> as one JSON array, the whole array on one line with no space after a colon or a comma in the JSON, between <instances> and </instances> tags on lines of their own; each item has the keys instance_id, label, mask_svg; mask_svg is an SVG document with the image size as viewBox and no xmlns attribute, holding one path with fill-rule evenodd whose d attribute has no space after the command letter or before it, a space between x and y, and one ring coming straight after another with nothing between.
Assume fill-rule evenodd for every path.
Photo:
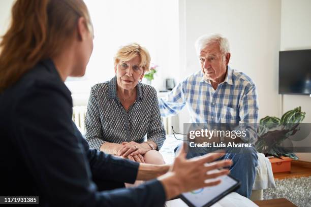
<instances>
[{"instance_id":1,"label":"dark navy blazer worn by the woman with long brown hair","mask_svg":"<svg viewBox=\"0 0 311 207\"><path fill-rule=\"evenodd\" d=\"M0 93L0 132L0 196L39 196L41 206L165 202L158 180L99 191L133 183L139 163L89 149L72 122L71 93L50 59Z\"/></svg>"}]
</instances>

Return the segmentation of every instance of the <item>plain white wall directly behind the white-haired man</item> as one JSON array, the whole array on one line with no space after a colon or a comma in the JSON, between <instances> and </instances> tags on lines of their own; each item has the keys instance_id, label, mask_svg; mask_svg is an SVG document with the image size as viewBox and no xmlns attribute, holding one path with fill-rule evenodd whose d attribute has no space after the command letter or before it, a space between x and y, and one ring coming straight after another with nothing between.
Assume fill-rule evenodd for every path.
<instances>
[{"instance_id":1,"label":"plain white wall directly behind the white-haired man","mask_svg":"<svg viewBox=\"0 0 311 207\"><path fill-rule=\"evenodd\" d=\"M231 50L229 65L257 85L260 118L279 116L277 87L281 1L180 0L181 65L179 80L200 70L194 43L205 33L221 33ZM182 33L183 32L183 33ZM184 45L183 45L184 44ZM185 60L185 61L184 61ZM181 122L188 117L180 117Z\"/></svg>"}]
</instances>

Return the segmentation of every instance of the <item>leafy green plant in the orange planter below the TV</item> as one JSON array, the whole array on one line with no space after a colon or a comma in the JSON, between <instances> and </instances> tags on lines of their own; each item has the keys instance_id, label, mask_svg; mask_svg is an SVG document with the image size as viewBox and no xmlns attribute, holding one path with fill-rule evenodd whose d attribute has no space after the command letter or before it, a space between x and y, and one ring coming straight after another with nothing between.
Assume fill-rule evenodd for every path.
<instances>
[{"instance_id":1,"label":"leafy green plant in the orange planter below the TV","mask_svg":"<svg viewBox=\"0 0 311 207\"><path fill-rule=\"evenodd\" d=\"M274 157L286 156L297 160L298 157L294 153L281 145L300 129L299 124L304 117L305 112L301 112L301 107L297 107L286 112L281 119L271 116L262 118L259 123L257 151Z\"/></svg>"}]
</instances>

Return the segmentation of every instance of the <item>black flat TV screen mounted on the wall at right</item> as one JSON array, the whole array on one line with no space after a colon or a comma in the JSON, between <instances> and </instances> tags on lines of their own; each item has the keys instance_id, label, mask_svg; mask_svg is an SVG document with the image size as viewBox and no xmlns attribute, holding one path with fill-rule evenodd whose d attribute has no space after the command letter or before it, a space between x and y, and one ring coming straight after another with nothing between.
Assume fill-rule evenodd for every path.
<instances>
[{"instance_id":1,"label":"black flat TV screen mounted on the wall at right","mask_svg":"<svg viewBox=\"0 0 311 207\"><path fill-rule=\"evenodd\" d=\"M279 94L311 94L311 50L279 52Z\"/></svg>"}]
</instances>

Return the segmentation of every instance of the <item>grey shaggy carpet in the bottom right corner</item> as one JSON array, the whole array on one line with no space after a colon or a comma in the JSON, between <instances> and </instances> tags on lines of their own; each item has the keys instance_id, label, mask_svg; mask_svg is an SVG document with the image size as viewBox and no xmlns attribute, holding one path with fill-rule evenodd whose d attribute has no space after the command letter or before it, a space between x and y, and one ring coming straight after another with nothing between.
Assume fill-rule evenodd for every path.
<instances>
[{"instance_id":1,"label":"grey shaggy carpet in the bottom right corner","mask_svg":"<svg viewBox=\"0 0 311 207\"><path fill-rule=\"evenodd\" d=\"M311 176L275 180L276 188L266 189L263 199L286 198L299 207L311 207Z\"/></svg>"}]
</instances>

